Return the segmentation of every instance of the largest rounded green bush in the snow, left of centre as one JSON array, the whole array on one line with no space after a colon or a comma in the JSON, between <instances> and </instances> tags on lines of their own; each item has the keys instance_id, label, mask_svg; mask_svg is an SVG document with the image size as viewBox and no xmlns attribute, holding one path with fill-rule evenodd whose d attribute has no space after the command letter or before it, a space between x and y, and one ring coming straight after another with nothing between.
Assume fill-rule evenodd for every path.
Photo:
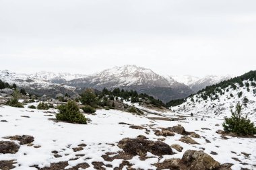
<instances>
[{"instance_id":1,"label":"largest rounded green bush in the snow, left of centre","mask_svg":"<svg viewBox=\"0 0 256 170\"><path fill-rule=\"evenodd\" d=\"M59 114L56 114L57 120L67 121L77 124L87 124L84 114L79 112L79 107L75 101L68 101L65 105L59 105Z\"/></svg>"}]
</instances>

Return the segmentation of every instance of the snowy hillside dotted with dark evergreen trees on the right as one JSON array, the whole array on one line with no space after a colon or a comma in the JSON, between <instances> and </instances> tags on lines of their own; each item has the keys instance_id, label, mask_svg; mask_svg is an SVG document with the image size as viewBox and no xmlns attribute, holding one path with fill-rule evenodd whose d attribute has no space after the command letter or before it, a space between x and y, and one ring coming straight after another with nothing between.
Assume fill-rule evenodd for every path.
<instances>
[{"instance_id":1,"label":"snowy hillside dotted with dark evergreen trees on the right","mask_svg":"<svg viewBox=\"0 0 256 170\"><path fill-rule=\"evenodd\" d=\"M231 116L230 109L240 102L243 114L256 122L256 71L206 87L184 101L171 109L183 114L224 118Z\"/></svg>"}]
</instances>

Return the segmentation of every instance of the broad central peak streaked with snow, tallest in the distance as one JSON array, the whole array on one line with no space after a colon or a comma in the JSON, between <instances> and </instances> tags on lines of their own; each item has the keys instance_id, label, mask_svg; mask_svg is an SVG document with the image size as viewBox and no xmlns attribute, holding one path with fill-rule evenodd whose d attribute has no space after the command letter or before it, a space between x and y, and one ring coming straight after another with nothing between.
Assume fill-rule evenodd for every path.
<instances>
[{"instance_id":1,"label":"broad central peak streaked with snow, tallest in the distance","mask_svg":"<svg viewBox=\"0 0 256 170\"><path fill-rule=\"evenodd\" d=\"M94 89L103 89L104 87L109 89L117 87L134 89L139 93L153 95L165 102L170 99L187 97L193 93L187 85L171 80L154 73L150 69L125 65L124 67L106 69L82 79L74 79L65 84L73 87L92 87Z\"/></svg>"}]
</instances>

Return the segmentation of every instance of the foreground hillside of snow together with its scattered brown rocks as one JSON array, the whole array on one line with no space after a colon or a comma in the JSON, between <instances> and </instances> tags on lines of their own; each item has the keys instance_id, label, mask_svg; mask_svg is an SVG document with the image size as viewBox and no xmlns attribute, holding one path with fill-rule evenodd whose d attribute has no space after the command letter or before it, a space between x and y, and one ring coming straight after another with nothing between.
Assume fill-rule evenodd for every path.
<instances>
[{"instance_id":1,"label":"foreground hillside of snow together with its scattered brown rocks","mask_svg":"<svg viewBox=\"0 0 256 170\"><path fill-rule=\"evenodd\" d=\"M217 134L222 120L216 118L184 120L174 112L127 102L144 114L97 110L84 113L88 124L70 124L54 120L58 110L28 109L32 104L38 101L25 108L0 106L0 146L11 147L11 153L0 147L0 169L190 169L202 161L203 169L255 168L255 138ZM186 159L194 153L203 159Z\"/></svg>"}]
</instances>

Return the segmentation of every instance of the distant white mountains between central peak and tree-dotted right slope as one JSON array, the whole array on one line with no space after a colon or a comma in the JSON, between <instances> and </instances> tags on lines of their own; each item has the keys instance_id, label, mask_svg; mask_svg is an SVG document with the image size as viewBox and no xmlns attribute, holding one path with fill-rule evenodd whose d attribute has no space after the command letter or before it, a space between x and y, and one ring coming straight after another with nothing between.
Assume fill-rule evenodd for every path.
<instances>
[{"instance_id":1,"label":"distant white mountains between central peak and tree-dotted right slope","mask_svg":"<svg viewBox=\"0 0 256 170\"><path fill-rule=\"evenodd\" d=\"M184 76L171 76L175 81L179 83L183 83L190 87L195 93L206 86L214 85L220 83L221 81L225 81L234 77L233 75L225 75L225 76L216 76L216 75L207 75L205 77L199 78L191 75Z\"/></svg>"}]
</instances>

